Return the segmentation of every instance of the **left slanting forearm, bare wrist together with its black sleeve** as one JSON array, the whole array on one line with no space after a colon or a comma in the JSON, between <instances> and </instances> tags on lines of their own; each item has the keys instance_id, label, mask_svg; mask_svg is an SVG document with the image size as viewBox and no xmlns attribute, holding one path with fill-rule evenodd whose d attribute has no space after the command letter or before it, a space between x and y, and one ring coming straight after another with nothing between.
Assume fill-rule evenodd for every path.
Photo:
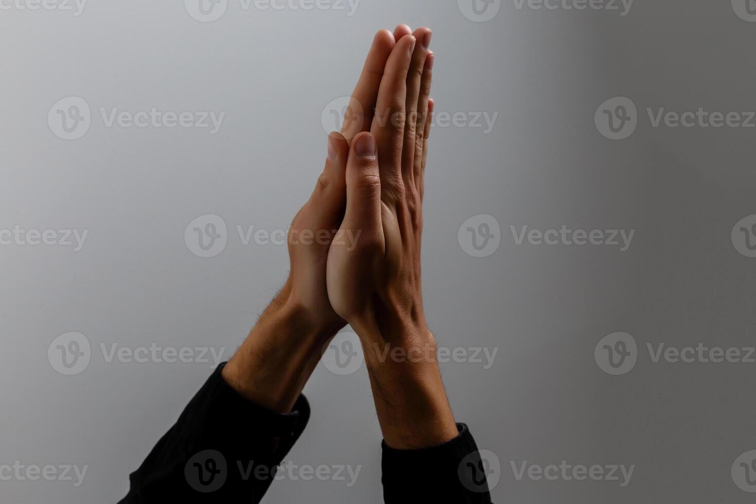
<instances>
[{"instance_id":1,"label":"left slanting forearm, bare wrist together with its black sleeve","mask_svg":"<svg viewBox=\"0 0 756 504\"><path fill-rule=\"evenodd\" d=\"M309 407L302 388L321 346L339 329L312 320L290 291L287 283L231 361L187 405L132 475L122 502L259 502L275 466L305 428ZM207 457L212 466L226 467L217 489L210 472L203 472ZM266 476L249 478L237 470L237 463L249 461Z\"/></svg>"}]
</instances>

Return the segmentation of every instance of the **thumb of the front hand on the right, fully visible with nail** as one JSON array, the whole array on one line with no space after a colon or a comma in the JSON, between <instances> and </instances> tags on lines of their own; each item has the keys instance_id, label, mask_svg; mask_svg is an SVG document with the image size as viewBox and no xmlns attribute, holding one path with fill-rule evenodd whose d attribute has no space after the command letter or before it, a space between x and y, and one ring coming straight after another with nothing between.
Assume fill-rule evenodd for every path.
<instances>
[{"instance_id":1,"label":"thumb of the front hand on the right, fully visible with nail","mask_svg":"<svg viewBox=\"0 0 756 504\"><path fill-rule=\"evenodd\" d=\"M348 230L381 229L380 172L376 139L362 132L355 137L346 162L346 213Z\"/></svg>"}]
</instances>

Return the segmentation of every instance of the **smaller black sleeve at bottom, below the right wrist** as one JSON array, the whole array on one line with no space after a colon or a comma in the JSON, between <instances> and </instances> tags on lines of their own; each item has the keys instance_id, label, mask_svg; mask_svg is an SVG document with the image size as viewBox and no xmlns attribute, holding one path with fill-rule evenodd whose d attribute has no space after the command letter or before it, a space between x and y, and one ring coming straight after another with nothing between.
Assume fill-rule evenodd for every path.
<instances>
[{"instance_id":1,"label":"smaller black sleeve at bottom, below the right wrist","mask_svg":"<svg viewBox=\"0 0 756 504\"><path fill-rule=\"evenodd\" d=\"M383 443L383 500L386 504L454 502L491 504L486 472L467 425L448 443L422 450L395 450Z\"/></svg>"}]
</instances>

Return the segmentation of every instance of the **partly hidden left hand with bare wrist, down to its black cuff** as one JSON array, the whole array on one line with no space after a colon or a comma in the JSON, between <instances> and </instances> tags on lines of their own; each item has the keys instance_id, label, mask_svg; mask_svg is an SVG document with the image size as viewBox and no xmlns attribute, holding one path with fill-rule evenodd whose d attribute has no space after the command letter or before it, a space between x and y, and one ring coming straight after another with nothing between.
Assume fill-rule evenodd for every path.
<instances>
[{"instance_id":1,"label":"partly hidden left hand with bare wrist, down to its black cuff","mask_svg":"<svg viewBox=\"0 0 756 504\"><path fill-rule=\"evenodd\" d=\"M373 110L395 36L407 32L406 26L398 26L394 35L386 30L376 34L352 96L355 110ZM354 123L359 131L370 126L372 115L360 118ZM270 410L290 410L320 360L322 345L345 324L328 300L326 264L346 204L348 153L345 135L331 134L325 168L290 227L288 280L223 369L234 389Z\"/></svg>"}]
</instances>

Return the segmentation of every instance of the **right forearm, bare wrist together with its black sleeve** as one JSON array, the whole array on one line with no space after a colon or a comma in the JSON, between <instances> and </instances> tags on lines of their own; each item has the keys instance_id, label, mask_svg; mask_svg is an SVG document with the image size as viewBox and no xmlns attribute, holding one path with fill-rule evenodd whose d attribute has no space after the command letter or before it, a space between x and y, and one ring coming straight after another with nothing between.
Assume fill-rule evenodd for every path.
<instances>
[{"instance_id":1,"label":"right forearm, bare wrist together with its black sleeve","mask_svg":"<svg viewBox=\"0 0 756 504\"><path fill-rule=\"evenodd\" d=\"M383 430L384 502L490 504L485 462L467 426L454 423L422 316L411 323L392 323L410 317L386 311L369 318L355 330Z\"/></svg>"}]
</instances>

